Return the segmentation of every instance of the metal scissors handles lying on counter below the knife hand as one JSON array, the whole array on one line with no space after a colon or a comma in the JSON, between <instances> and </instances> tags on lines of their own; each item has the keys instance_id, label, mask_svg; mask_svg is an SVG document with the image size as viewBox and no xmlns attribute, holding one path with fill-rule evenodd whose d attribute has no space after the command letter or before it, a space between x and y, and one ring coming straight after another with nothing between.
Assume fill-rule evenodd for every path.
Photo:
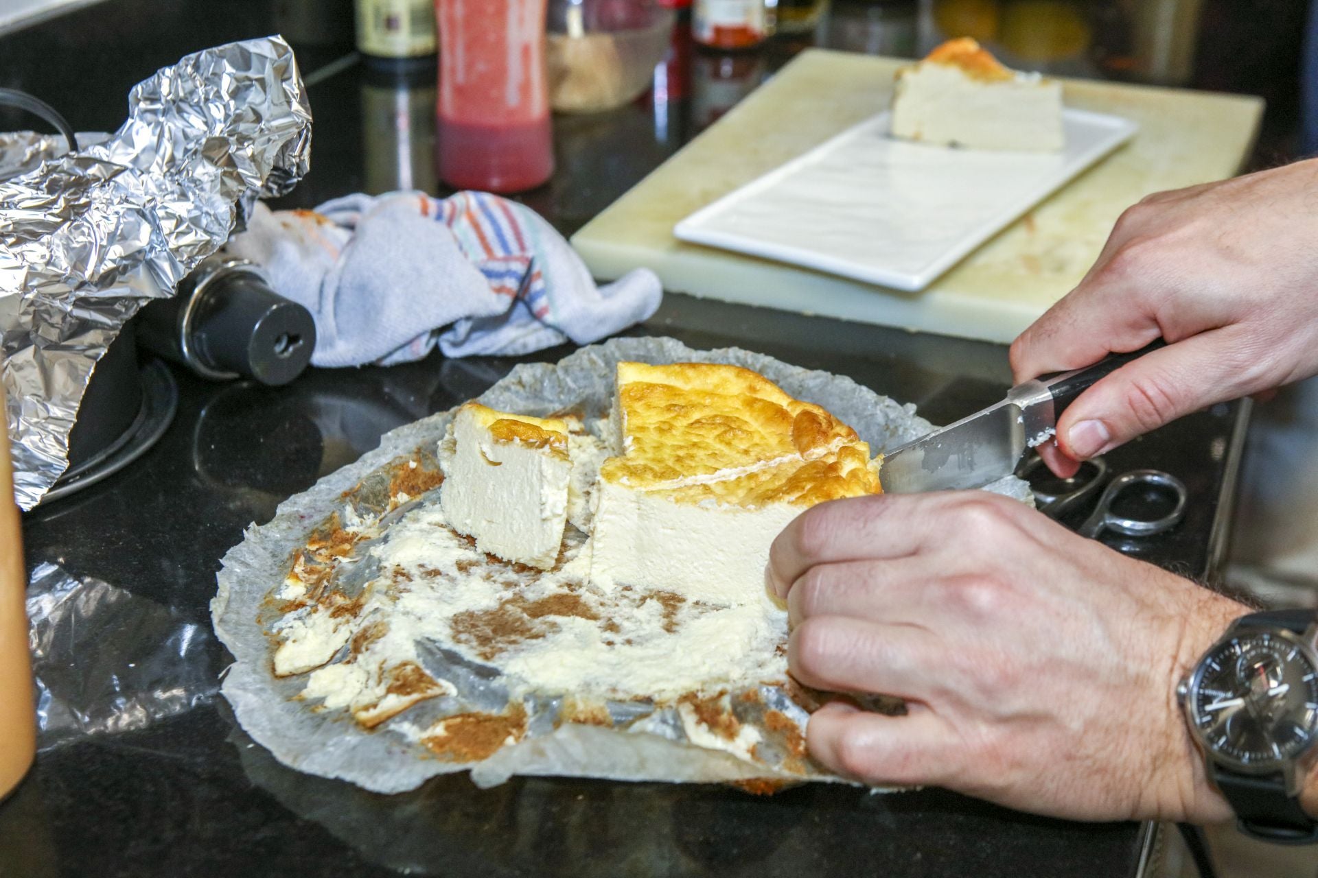
<instances>
[{"instance_id":1,"label":"metal scissors handles lying on counter below the knife hand","mask_svg":"<svg viewBox=\"0 0 1318 878\"><path fill-rule=\"evenodd\" d=\"M1161 470L1130 470L1108 479L1107 461L1101 457L1085 461L1075 475L1069 479L1057 479L1065 490L1048 491L1035 487L1031 475L1044 466L1044 461L1037 454L1029 455L1016 470L1016 474L1031 482L1035 494L1035 504L1040 512L1050 519L1060 519L1074 509L1089 498L1103 490L1098 498L1094 512L1079 525L1078 533L1082 537L1095 538L1104 530L1115 530L1128 537L1148 537L1155 533L1170 530L1185 517L1185 504L1189 491L1185 483L1170 473ZM1103 487L1106 483L1107 487ZM1133 487L1153 486L1172 494L1174 503L1166 515L1149 519L1127 517L1116 515L1112 505L1116 499Z\"/></svg>"}]
</instances>

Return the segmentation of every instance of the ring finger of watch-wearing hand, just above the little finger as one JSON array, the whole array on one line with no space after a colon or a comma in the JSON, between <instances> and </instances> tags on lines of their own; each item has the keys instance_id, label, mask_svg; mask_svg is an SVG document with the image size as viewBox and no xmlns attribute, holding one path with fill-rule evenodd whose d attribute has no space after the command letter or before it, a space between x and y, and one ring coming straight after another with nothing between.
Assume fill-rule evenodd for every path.
<instances>
[{"instance_id":1,"label":"ring finger of watch-wearing hand, just above the little finger","mask_svg":"<svg viewBox=\"0 0 1318 878\"><path fill-rule=\"evenodd\" d=\"M816 616L787 638L787 667L813 688L923 699L946 650L927 631Z\"/></svg>"}]
</instances>

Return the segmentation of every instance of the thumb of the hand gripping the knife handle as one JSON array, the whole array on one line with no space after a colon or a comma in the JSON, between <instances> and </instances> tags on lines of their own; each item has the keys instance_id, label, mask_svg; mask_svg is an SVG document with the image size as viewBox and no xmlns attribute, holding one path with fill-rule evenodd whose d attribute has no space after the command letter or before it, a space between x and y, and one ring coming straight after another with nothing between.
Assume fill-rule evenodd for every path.
<instances>
[{"instance_id":1,"label":"thumb of the hand gripping the knife handle","mask_svg":"<svg viewBox=\"0 0 1318 878\"><path fill-rule=\"evenodd\" d=\"M1249 353L1214 329L1148 353L1086 390L1057 421L1057 444L1078 461L1182 415L1249 392Z\"/></svg>"}]
</instances>

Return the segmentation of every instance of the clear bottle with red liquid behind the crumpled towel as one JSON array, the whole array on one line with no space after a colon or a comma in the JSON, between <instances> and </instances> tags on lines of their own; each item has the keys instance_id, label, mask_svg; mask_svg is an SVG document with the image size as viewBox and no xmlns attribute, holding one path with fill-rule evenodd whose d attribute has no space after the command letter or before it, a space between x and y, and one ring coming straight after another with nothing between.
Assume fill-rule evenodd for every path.
<instances>
[{"instance_id":1,"label":"clear bottle with red liquid behind the crumpled towel","mask_svg":"<svg viewBox=\"0 0 1318 878\"><path fill-rule=\"evenodd\" d=\"M546 0L435 0L439 175L521 192L554 174L544 76Z\"/></svg>"}]
</instances>

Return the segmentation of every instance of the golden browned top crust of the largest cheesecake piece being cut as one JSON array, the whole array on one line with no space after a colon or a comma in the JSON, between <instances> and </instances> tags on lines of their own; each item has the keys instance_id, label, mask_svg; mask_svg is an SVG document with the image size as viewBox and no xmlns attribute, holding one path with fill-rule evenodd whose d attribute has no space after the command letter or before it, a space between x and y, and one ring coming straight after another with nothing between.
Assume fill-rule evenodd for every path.
<instances>
[{"instance_id":1,"label":"golden browned top crust of the largest cheesecake piece being cut","mask_svg":"<svg viewBox=\"0 0 1318 878\"><path fill-rule=\"evenodd\" d=\"M618 363L623 454L600 475L683 503L813 505L876 494L870 448L826 409L722 363Z\"/></svg>"}]
</instances>

